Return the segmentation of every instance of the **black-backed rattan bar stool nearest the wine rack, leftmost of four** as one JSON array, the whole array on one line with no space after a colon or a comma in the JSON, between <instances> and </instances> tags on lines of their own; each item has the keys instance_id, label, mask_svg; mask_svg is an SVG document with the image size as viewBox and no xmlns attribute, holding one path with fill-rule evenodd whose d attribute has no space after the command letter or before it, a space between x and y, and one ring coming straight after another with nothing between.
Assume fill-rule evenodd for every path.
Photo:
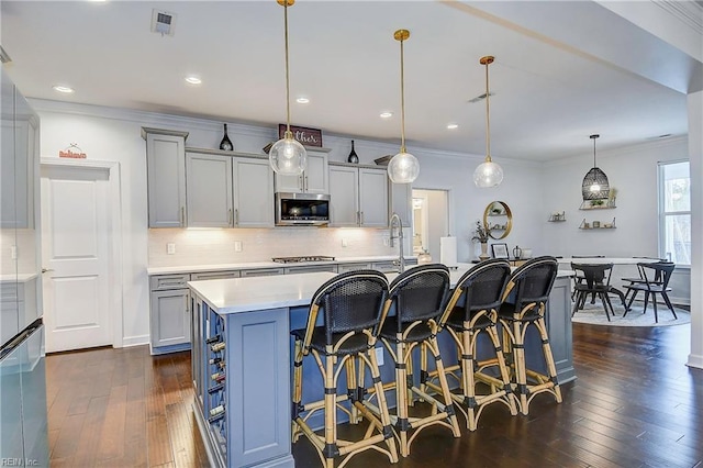
<instances>
[{"instance_id":1,"label":"black-backed rattan bar stool nearest the wine rack, leftmost of four","mask_svg":"<svg viewBox=\"0 0 703 468\"><path fill-rule=\"evenodd\" d=\"M293 361L292 441L304 434L317 450L326 468L341 458L344 466L354 455L375 449L398 461L398 450L378 361L373 346L381 313L388 298L388 280L375 270L337 275L315 292L308 325L291 332L295 339ZM323 324L315 326L322 309ZM324 400L302 404L303 357L312 355L324 381ZM364 389L366 367L373 381L376 404L369 403ZM338 394L342 371L347 379L346 394ZM357 383L359 382L359 383ZM371 410L369 410L369 405ZM349 415L350 423L361 419L368 428L360 439L346 441L337 435L337 410ZM317 411L324 411L324 434L308 424Z\"/></svg>"}]
</instances>

